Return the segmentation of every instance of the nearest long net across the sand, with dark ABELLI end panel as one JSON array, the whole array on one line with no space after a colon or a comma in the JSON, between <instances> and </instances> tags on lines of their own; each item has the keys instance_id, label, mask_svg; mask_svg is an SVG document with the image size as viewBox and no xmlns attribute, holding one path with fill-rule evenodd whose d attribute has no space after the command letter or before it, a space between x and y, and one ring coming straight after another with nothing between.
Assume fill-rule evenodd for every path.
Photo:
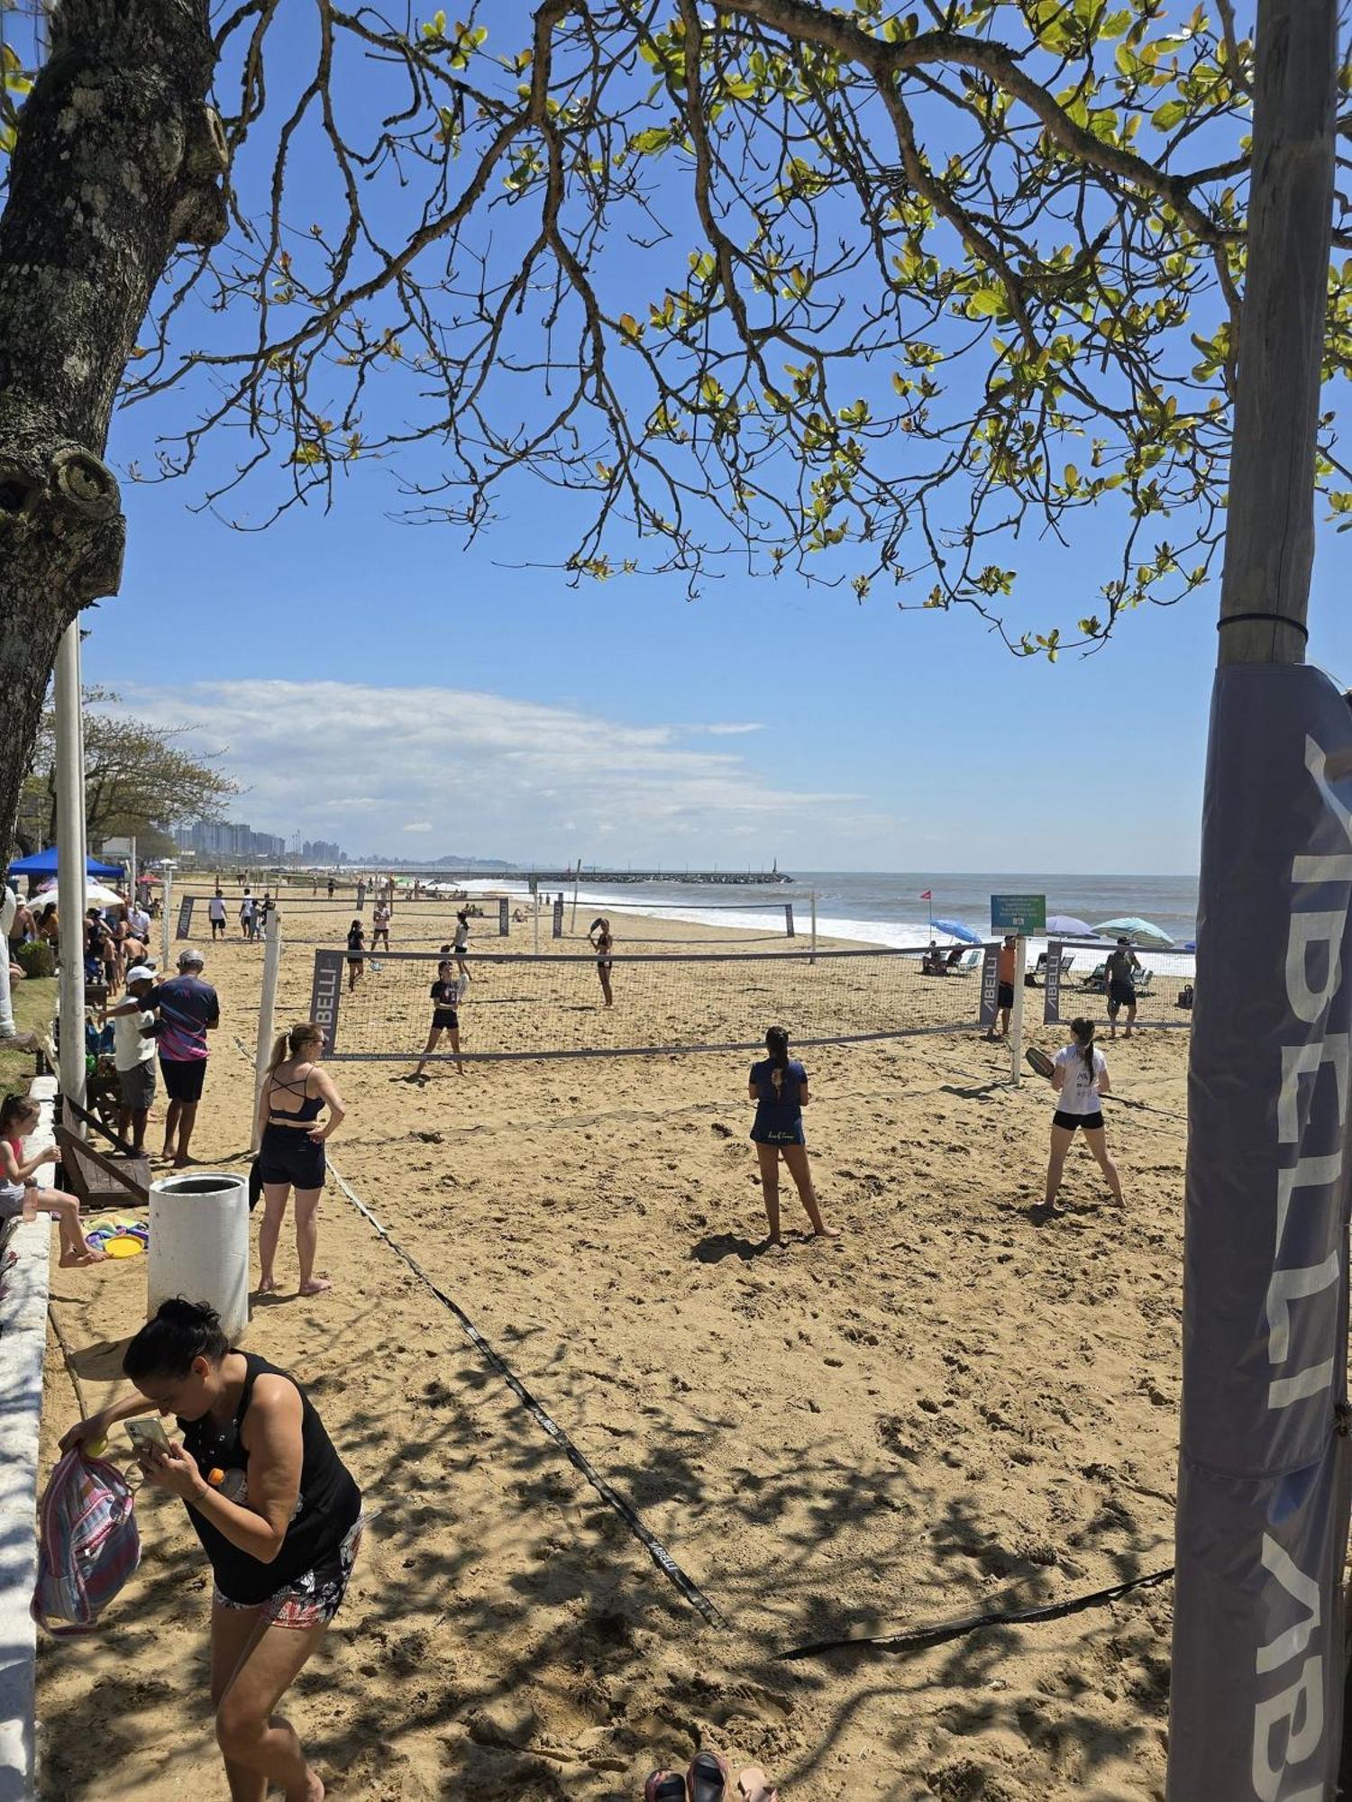
<instances>
[{"instance_id":1,"label":"nearest long net across the sand, with dark ABELLI end panel","mask_svg":"<svg viewBox=\"0 0 1352 1802\"><path fill-rule=\"evenodd\" d=\"M458 1004L469 1058L618 1058L759 1051L764 1029L827 1045L952 1033L977 1022L979 969L925 975L919 950L626 953L609 966L613 1006L593 953L472 953ZM330 1056L406 1061L433 1025L438 957L366 953L355 982L346 951L314 953L312 1016ZM451 980L460 980L452 964ZM436 1056L449 1056L443 1036Z\"/></svg>"}]
</instances>

